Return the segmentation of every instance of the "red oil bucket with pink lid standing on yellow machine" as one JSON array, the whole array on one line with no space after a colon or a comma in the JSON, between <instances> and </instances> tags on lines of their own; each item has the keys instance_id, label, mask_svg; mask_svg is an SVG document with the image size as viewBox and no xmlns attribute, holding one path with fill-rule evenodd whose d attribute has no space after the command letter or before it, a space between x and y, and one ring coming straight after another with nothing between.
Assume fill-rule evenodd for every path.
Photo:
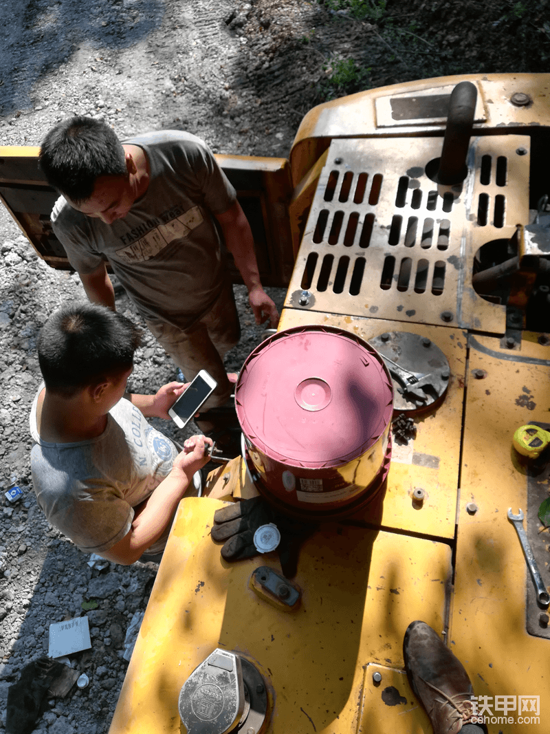
<instances>
[{"instance_id":1,"label":"red oil bucket with pink lid standing on yellow machine","mask_svg":"<svg viewBox=\"0 0 550 734\"><path fill-rule=\"evenodd\" d=\"M392 379L350 332L309 325L266 339L241 369L235 404L258 489L290 514L348 514L385 478Z\"/></svg>"}]
</instances>

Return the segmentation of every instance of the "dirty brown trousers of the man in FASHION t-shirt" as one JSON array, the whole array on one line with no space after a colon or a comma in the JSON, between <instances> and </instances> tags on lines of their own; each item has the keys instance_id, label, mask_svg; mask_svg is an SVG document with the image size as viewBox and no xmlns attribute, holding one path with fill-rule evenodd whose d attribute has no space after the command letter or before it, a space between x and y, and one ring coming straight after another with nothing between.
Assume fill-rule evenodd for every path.
<instances>
[{"instance_id":1,"label":"dirty brown trousers of the man in FASHION t-shirt","mask_svg":"<svg viewBox=\"0 0 550 734\"><path fill-rule=\"evenodd\" d=\"M171 324L147 321L151 333L190 382L205 369L218 387L204 408L223 405L234 388L227 379L224 356L238 343L241 325L231 283L226 283L214 305L202 319L183 331Z\"/></svg>"}]
</instances>

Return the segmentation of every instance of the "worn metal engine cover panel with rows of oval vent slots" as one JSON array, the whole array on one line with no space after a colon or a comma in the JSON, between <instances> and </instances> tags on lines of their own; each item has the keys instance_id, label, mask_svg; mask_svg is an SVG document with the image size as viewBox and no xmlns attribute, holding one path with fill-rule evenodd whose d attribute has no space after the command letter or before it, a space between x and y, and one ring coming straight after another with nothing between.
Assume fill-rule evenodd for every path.
<instances>
[{"instance_id":1,"label":"worn metal engine cover panel with rows of oval vent slots","mask_svg":"<svg viewBox=\"0 0 550 734\"><path fill-rule=\"evenodd\" d=\"M425 173L440 153L433 138L333 140L285 305L503 334L504 306L472 288L474 255L529 221L529 138L472 139L458 191Z\"/></svg>"}]
</instances>

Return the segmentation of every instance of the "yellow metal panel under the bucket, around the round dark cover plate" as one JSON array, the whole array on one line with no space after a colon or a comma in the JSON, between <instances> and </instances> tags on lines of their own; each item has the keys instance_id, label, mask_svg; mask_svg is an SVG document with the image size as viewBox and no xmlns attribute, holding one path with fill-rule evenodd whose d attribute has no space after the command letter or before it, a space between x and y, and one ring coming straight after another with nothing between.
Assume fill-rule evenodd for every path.
<instances>
[{"instance_id":1,"label":"yellow metal panel under the bucket, around the round dark cover plate","mask_svg":"<svg viewBox=\"0 0 550 734\"><path fill-rule=\"evenodd\" d=\"M392 464L381 506L370 506L354 519L452 539L458 497L466 335L458 329L425 324L409 327L408 324L397 324L395 321L283 309L279 329L304 324L329 324L351 331L365 341L386 331L414 331L422 337L428 337L444 352L451 376L443 402L417 415L417 436L409 440L406 446L393 441ZM417 487L425 490L422 504L414 501L412 496Z\"/></svg>"}]
</instances>

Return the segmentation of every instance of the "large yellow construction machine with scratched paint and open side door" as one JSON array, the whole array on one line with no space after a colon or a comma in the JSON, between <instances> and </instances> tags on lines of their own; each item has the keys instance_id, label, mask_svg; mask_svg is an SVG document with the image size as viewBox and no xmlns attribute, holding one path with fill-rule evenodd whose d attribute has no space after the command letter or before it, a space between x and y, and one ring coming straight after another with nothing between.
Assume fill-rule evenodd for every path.
<instances>
[{"instance_id":1,"label":"large yellow construction machine with scratched paint and open side door","mask_svg":"<svg viewBox=\"0 0 550 734\"><path fill-rule=\"evenodd\" d=\"M0 196L64 267L36 154L0 150ZM288 288L279 333L333 327L388 360L391 463L375 506L304 539L293 578L276 553L227 563L210 538L216 509L269 493L253 447L183 500L111 734L428 733L403 671L414 619L466 667L490 732L548 731L548 605L508 509L548 596L550 470L513 435L550 429L550 75L361 92L312 109L288 161L217 157L263 280ZM422 393L406 379L424 347L445 364Z\"/></svg>"}]
</instances>

